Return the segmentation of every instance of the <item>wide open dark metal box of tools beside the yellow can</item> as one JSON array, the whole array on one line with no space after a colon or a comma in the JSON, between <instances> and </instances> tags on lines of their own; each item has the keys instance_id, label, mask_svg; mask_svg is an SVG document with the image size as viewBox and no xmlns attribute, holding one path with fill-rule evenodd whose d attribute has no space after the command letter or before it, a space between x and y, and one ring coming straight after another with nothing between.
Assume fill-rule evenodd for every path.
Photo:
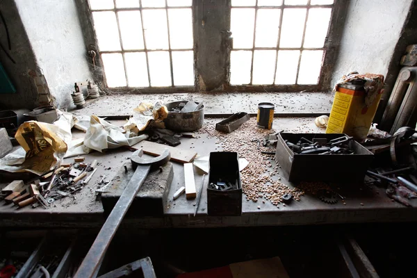
<instances>
[{"instance_id":1,"label":"wide open dark metal box of tools beside the yellow can","mask_svg":"<svg viewBox=\"0 0 417 278\"><path fill-rule=\"evenodd\" d=\"M345 134L337 133L279 133L277 135L277 151L275 159L281 166L284 177L288 181L328 181L328 182L362 182L368 166L373 160L373 154L355 140L347 140L343 145L335 147L346 147L349 152L345 154L337 152L322 152L302 154L293 150L297 142L302 140L313 143L320 139L327 139L327 145L331 149L332 142L337 142L338 138L348 138ZM331 142L332 141L332 142ZM320 146L316 146L320 147Z\"/></svg>"}]
</instances>

